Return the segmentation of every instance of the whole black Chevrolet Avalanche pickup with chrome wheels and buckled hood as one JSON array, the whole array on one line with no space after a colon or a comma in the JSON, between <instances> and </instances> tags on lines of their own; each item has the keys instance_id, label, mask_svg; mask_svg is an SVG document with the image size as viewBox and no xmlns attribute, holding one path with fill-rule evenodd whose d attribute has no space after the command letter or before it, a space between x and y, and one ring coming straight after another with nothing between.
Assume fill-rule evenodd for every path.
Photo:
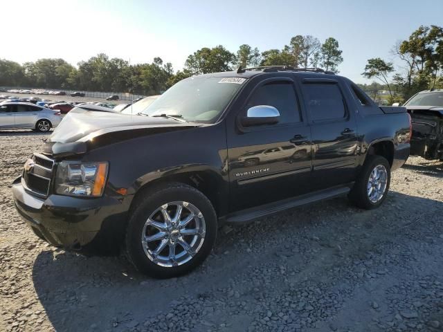
<instances>
[{"instance_id":1,"label":"whole black Chevrolet Avalanche pickup with chrome wheels and buckled hood","mask_svg":"<svg viewBox=\"0 0 443 332\"><path fill-rule=\"evenodd\" d=\"M38 237L187 273L222 223L348 194L386 199L410 118L345 77L287 66L190 77L138 115L75 108L12 185Z\"/></svg>"}]
</instances>

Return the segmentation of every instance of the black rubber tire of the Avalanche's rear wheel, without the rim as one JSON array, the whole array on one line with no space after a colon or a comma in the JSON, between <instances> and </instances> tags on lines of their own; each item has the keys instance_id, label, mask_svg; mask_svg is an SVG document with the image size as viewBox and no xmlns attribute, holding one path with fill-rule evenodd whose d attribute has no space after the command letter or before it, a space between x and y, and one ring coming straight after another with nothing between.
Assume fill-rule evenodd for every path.
<instances>
[{"instance_id":1,"label":"black rubber tire of the Avalanche's rear wheel, without the rim","mask_svg":"<svg viewBox=\"0 0 443 332\"><path fill-rule=\"evenodd\" d=\"M370 175L372 171L377 166L383 166L386 169L386 188L383 191L383 196L381 196L380 199L378 199L376 202L371 201L369 194L368 194L368 184L370 180ZM383 201L386 199L386 196L388 194L390 185L390 166L388 163L388 160L386 158L383 158L382 156L367 156L365 163L363 164L363 167L361 169L361 172L354 184L354 187L352 188L350 194L348 195L350 201L354 203L354 205L358 206L359 208L366 209L366 210L372 210L375 208L378 208Z\"/></svg>"}]
</instances>

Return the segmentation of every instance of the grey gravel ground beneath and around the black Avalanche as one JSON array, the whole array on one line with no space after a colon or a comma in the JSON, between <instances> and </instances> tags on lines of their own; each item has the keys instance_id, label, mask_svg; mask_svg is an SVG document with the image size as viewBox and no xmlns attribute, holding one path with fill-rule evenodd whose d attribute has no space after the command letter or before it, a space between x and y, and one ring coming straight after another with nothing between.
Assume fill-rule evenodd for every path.
<instances>
[{"instance_id":1,"label":"grey gravel ground beneath and around the black Avalanche","mask_svg":"<svg viewBox=\"0 0 443 332\"><path fill-rule=\"evenodd\" d=\"M410 158L379 210L347 199L221 232L179 279L56 250L8 184L46 134L0 132L0 331L443 331L443 164Z\"/></svg>"}]
</instances>

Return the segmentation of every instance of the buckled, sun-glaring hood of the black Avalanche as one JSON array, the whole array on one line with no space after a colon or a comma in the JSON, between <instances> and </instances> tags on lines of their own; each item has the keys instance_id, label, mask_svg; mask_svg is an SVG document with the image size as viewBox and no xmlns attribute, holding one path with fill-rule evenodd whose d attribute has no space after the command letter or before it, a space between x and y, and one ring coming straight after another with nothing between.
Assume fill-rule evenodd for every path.
<instances>
[{"instance_id":1,"label":"buckled, sun-glaring hood of the black Avalanche","mask_svg":"<svg viewBox=\"0 0 443 332\"><path fill-rule=\"evenodd\" d=\"M121 140L190 129L199 125L168 118L132 116L76 107L66 114L46 140L43 152L53 157L84 154L91 149Z\"/></svg>"}]
</instances>

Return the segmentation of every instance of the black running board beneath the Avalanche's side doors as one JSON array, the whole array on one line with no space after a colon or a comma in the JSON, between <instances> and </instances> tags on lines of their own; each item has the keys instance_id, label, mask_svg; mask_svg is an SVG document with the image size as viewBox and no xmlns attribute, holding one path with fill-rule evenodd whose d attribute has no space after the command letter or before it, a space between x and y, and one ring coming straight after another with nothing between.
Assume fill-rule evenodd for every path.
<instances>
[{"instance_id":1,"label":"black running board beneath the Avalanche's side doors","mask_svg":"<svg viewBox=\"0 0 443 332\"><path fill-rule=\"evenodd\" d=\"M334 197L342 196L350 192L353 184L354 183L350 183L345 186L341 185L339 187L332 187L327 190L320 190L311 194L305 194L293 197L291 199L284 199L282 201L260 205L256 208L248 208L246 210L234 212L232 214L228 214L225 221L226 223L247 223L248 221L253 221L254 219L262 218L263 216L268 216L269 214L274 214L291 208L296 208L301 205L307 205L317 201L323 201L325 199L333 199Z\"/></svg>"}]
</instances>

